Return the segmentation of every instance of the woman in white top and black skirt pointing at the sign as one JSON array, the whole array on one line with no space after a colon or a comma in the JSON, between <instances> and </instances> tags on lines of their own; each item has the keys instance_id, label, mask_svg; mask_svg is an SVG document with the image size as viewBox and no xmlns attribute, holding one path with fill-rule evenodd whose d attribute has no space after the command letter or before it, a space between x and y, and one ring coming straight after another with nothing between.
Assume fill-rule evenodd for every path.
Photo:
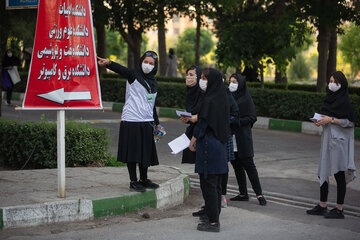
<instances>
[{"instance_id":1,"label":"woman in white top and black skirt pointing at the sign","mask_svg":"<svg viewBox=\"0 0 360 240\"><path fill-rule=\"evenodd\" d=\"M122 110L118 161L127 164L130 175L130 190L143 192L145 188L158 188L147 177L149 166L158 165L154 132L160 129L155 108L158 84L155 74L158 56L147 51L140 58L139 67L130 70L108 59L98 58L100 66L105 66L127 79L125 105ZM136 176L139 165L140 180Z\"/></svg>"}]
</instances>

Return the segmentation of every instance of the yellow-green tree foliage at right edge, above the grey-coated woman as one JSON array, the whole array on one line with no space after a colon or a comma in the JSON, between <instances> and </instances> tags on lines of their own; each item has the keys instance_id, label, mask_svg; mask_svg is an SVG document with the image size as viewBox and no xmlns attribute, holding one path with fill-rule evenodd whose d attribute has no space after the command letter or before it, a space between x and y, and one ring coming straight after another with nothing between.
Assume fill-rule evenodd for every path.
<instances>
[{"instance_id":1,"label":"yellow-green tree foliage at right edge, above the grey-coated woman","mask_svg":"<svg viewBox=\"0 0 360 240\"><path fill-rule=\"evenodd\" d=\"M344 59L351 65L352 77L360 71L360 26L351 24L345 28L345 34L340 37L339 49Z\"/></svg>"}]
</instances>

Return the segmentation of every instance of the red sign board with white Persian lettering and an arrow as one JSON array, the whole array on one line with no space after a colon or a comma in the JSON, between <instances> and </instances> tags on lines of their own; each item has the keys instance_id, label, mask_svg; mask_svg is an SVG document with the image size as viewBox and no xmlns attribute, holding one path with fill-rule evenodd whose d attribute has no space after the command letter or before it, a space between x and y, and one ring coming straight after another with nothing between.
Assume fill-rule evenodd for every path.
<instances>
[{"instance_id":1,"label":"red sign board with white Persian lettering and an arrow","mask_svg":"<svg viewBox=\"0 0 360 240\"><path fill-rule=\"evenodd\" d=\"M102 109L90 0L40 0L24 109Z\"/></svg>"}]
</instances>

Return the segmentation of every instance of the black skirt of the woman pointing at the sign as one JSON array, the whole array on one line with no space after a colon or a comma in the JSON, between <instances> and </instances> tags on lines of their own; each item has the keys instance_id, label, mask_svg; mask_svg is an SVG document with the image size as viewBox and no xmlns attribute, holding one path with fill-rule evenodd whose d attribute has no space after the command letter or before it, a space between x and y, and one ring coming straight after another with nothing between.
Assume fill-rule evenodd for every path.
<instances>
[{"instance_id":1,"label":"black skirt of the woman pointing at the sign","mask_svg":"<svg viewBox=\"0 0 360 240\"><path fill-rule=\"evenodd\" d=\"M120 123L117 160L123 163L139 163L142 167L159 165L152 122Z\"/></svg>"}]
</instances>

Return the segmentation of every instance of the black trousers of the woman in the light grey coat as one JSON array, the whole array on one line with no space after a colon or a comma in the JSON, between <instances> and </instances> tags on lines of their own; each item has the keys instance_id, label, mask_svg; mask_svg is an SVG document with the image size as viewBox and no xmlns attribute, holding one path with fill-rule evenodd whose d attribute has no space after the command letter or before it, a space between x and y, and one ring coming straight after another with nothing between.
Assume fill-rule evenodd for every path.
<instances>
[{"instance_id":1,"label":"black trousers of the woman in the light grey coat","mask_svg":"<svg viewBox=\"0 0 360 240\"><path fill-rule=\"evenodd\" d=\"M346 180L345 180L345 172L340 171L334 175L336 180L337 187L337 204L344 204L345 193L346 193ZM320 187L320 201L327 202L327 197L329 193L329 184L328 182L324 182Z\"/></svg>"}]
</instances>

